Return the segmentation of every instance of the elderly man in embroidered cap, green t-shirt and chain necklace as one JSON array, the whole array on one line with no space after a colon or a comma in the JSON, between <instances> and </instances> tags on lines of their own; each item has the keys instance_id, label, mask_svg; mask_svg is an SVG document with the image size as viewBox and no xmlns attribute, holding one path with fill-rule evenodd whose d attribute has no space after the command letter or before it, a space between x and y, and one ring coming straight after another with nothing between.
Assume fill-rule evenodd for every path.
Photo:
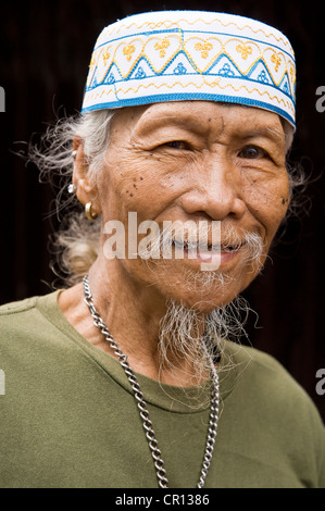
<instances>
[{"instance_id":1,"label":"elderly man in embroidered cap, green t-shirt and chain necklace","mask_svg":"<svg viewBox=\"0 0 325 511\"><path fill-rule=\"evenodd\" d=\"M1 309L0 486L325 486L314 406L229 340L289 205L293 130L278 30L175 11L102 32L82 115L37 154L85 207L59 237L73 285Z\"/></svg>"}]
</instances>

